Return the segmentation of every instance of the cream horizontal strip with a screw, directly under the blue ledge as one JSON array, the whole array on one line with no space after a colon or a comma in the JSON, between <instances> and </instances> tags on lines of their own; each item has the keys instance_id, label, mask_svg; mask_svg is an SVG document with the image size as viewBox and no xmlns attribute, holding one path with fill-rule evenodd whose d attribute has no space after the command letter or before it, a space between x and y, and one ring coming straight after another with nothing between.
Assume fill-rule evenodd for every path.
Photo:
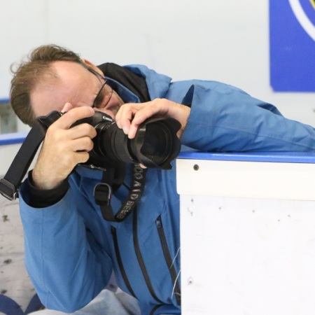
<instances>
[{"instance_id":1,"label":"cream horizontal strip with a screw, directly under the blue ledge","mask_svg":"<svg viewBox=\"0 0 315 315\"><path fill-rule=\"evenodd\" d=\"M176 165L180 195L315 200L315 159L314 164L180 159Z\"/></svg>"}]
</instances>

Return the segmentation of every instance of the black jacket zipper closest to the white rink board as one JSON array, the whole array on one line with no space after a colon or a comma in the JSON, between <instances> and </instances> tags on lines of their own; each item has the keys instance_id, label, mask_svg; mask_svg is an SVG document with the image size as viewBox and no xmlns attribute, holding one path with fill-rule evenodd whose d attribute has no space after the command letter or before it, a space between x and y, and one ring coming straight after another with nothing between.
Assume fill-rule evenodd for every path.
<instances>
[{"instance_id":1,"label":"black jacket zipper closest to the white rink board","mask_svg":"<svg viewBox=\"0 0 315 315\"><path fill-rule=\"evenodd\" d=\"M162 249L164 253L165 260L167 262L167 266L169 267L169 273L171 274L173 288L174 288L174 294L176 297L176 302L181 305L181 288L179 286L179 281L177 281L178 276L176 273L176 269L174 267L171 254L169 253L169 246L167 245L167 238L165 236L165 230L162 225L162 218L159 216L156 219L156 226L158 228L158 234L160 237L160 241L162 244Z\"/></svg>"}]
</instances>

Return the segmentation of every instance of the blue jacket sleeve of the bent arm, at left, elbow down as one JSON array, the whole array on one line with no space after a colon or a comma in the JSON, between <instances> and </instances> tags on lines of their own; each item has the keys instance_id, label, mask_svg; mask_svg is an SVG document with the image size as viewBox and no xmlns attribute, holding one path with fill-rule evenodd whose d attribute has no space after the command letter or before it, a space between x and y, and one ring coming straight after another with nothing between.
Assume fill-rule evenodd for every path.
<instances>
[{"instance_id":1,"label":"blue jacket sleeve of the bent arm, at left, elbow down","mask_svg":"<svg viewBox=\"0 0 315 315\"><path fill-rule=\"evenodd\" d=\"M28 205L28 183L20 190L25 233L25 265L41 302L71 313L92 300L112 272L109 255L85 227L78 207L90 209L82 194L70 188L57 204Z\"/></svg>"}]
</instances>

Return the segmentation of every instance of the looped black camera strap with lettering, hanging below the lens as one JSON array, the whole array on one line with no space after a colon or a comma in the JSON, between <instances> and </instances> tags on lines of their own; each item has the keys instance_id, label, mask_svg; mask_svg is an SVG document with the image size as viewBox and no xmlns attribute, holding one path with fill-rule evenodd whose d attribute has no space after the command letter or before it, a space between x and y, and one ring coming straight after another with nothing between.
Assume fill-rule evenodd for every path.
<instances>
[{"instance_id":1,"label":"looped black camera strap with lettering, hanging below the lens","mask_svg":"<svg viewBox=\"0 0 315 315\"><path fill-rule=\"evenodd\" d=\"M123 203L120 210L114 214L111 207L111 197L113 195L113 178L115 169L109 168L108 171L103 173L103 179L101 183L98 183L94 188L94 199L99 205L102 211L102 216L106 221L121 222L124 221L129 214L137 207L137 203L141 199L144 193L144 185L146 182L146 169L140 167L139 164L132 165L132 183L130 192Z\"/></svg>"}]
</instances>

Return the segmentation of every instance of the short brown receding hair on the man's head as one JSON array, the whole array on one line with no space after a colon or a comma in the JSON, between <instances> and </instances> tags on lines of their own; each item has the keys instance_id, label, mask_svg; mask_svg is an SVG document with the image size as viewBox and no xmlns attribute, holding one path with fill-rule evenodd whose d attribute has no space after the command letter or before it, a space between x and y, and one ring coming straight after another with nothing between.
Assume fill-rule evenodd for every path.
<instances>
[{"instance_id":1,"label":"short brown receding hair on the man's head","mask_svg":"<svg viewBox=\"0 0 315 315\"><path fill-rule=\"evenodd\" d=\"M10 87L10 104L23 123L33 126L36 120L31 108L31 92L39 83L57 80L57 74L51 67L56 61L83 63L79 55L58 45L42 45L30 52L26 61L22 61L16 70L11 66L13 78ZM86 66L85 66L86 67Z\"/></svg>"}]
</instances>

